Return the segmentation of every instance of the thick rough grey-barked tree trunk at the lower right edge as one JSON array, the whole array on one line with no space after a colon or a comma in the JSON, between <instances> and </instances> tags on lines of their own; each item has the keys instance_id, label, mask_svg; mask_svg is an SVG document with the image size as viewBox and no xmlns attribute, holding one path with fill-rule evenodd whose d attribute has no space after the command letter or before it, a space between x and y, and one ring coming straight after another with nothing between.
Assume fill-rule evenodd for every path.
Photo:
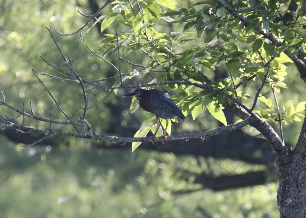
<instances>
[{"instance_id":1,"label":"thick rough grey-barked tree trunk at the lower right edge","mask_svg":"<svg viewBox=\"0 0 306 218\"><path fill-rule=\"evenodd\" d=\"M306 117L288 163L279 163L277 194L280 217L306 217Z\"/></svg>"}]
</instances>

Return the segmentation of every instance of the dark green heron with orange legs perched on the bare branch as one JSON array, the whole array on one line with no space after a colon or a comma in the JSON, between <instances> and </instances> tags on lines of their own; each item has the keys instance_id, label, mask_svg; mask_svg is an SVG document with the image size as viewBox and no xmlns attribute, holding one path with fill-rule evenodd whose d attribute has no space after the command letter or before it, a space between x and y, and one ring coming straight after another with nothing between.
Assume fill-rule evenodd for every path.
<instances>
[{"instance_id":1,"label":"dark green heron with orange legs perched on the bare branch","mask_svg":"<svg viewBox=\"0 0 306 218\"><path fill-rule=\"evenodd\" d=\"M132 93L126 94L124 96L135 96L137 98L139 106L142 109L151 112L156 116L157 126L154 136L157 140L158 138L156 137L156 133L159 127L159 117L166 120L165 132L162 135L165 139L167 139L166 131L169 124L168 119L172 119L176 116L180 117L182 120L185 119L184 114L172 101L172 99L157 89L136 89Z\"/></svg>"}]
</instances>

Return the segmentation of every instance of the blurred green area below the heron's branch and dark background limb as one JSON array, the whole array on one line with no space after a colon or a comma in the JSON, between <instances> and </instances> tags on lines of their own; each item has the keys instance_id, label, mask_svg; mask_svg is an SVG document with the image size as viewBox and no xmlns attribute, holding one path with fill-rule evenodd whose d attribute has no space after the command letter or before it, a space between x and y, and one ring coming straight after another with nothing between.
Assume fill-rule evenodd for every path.
<instances>
[{"instance_id":1,"label":"blurred green area below the heron's branch and dark background limb","mask_svg":"<svg viewBox=\"0 0 306 218\"><path fill-rule=\"evenodd\" d=\"M203 217L199 208L220 218L278 217L276 183L196 191L200 186L181 174L208 171L208 166L199 166L191 156L86 149L81 144L63 149L19 146L2 144L3 217ZM256 170L232 160L209 162L216 174Z\"/></svg>"}]
</instances>

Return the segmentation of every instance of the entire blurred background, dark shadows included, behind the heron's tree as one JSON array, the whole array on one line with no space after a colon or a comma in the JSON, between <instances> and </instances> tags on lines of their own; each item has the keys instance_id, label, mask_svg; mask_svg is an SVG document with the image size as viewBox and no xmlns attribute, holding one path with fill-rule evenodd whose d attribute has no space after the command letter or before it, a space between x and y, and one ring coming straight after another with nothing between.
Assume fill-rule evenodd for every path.
<instances>
[{"instance_id":1,"label":"entire blurred background, dark shadows included, behind the heron's tree","mask_svg":"<svg viewBox=\"0 0 306 218\"><path fill-rule=\"evenodd\" d=\"M187 7L195 1L177 1ZM59 36L78 29L103 1L20 1L0 0L0 89L6 103L39 117L48 117L52 99L37 81L37 74L59 75L43 59L52 64L64 64L47 29L51 27L64 54L71 59L84 55L74 63L79 75L86 78L117 76L109 64L86 48L101 49L99 24L79 41L79 35ZM106 8L106 11L111 7ZM106 12L105 12L106 13ZM93 23L89 25L91 27ZM159 24L166 32L176 25L166 21ZM103 34L123 31L114 22ZM205 33L204 36L205 37ZM192 43L192 42L191 42ZM195 42L196 43L196 42ZM188 44L186 44L186 49ZM102 49L101 49L102 50ZM124 54L123 54L124 55ZM43 57L43 59L40 58ZM116 54L106 58L117 65ZM141 53L126 54L130 61L147 65L149 58ZM290 108L304 99L302 81L294 66L288 65L289 91L279 97L280 105ZM130 64L121 63L123 73L132 72ZM207 70L210 79L222 78ZM83 106L80 86L39 75L59 105L68 114ZM295 78L295 79L294 79ZM118 78L117 78L118 79ZM113 86L117 80L103 83ZM136 79L129 81L135 84ZM141 81L140 81L141 82ZM163 90L161 87L160 90ZM97 134L133 136L147 113L137 110L130 114L131 99L122 95L131 89L94 89L88 94L91 105L88 121ZM165 90L163 90L165 91ZM170 92L171 95L176 93ZM2 97L1 97L2 98ZM290 99L290 101L288 101ZM1 113L17 114L3 105ZM82 115L81 110L75 117ZM228 123L237 121L226 114ZM54 106L54 120L65 116ZM22 117L17 119L22 122ZM48 124L36 123L47 128ZM220 124L204 112L196 120L188 115L184 122L172 125L172 132L210 130ZM284 126L285 142L294 146L301 123ZM57 126L53 125L56 129ZM71 131L71 126L58 126ZM39 134L22 134L12 129L0 130L0 213L4 217L278 217L276 191L278 170L275 155L262 139L250 137L258 132L253 128L234 131L203 140L182 140L166 145L143 143L131 152L131 144L95 142L72 137L49 137L28 148L20 146L39 139ZM239 175L240 177L235 177Z\"/></svg>"}]
</instances>

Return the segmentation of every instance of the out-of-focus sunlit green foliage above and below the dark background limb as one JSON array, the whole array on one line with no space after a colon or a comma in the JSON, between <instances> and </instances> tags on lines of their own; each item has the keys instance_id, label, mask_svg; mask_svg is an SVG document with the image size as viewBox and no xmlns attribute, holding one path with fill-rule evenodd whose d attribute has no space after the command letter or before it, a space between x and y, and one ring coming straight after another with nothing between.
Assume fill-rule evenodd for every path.
<instances>
[{"instance_id":1,"label":"out-of-focus sunlit green foliage above and below the dark background limb","mask_svg":"<svg viewBox=\"0 0 306 218\"><path fill-rule=\"evenodd\" d=\"M187 1L177 1L177 4L179 3L182 7L189 6ZM62 37L53 31L53 28L57 28L60 32L70 33L82 26L87 18L82 17L75 9L78 7L85 14L92 14L87 1L33 0L19 1L17 4L16 1L8 0L0 1L0 4L0 89L7 103L22 109L24 102L25 110L30 113L31 101L38 116L49 116L50 96L35 79L31 69L36 73L45 72L59 76L60 74L39 56L53 64L63 64L63 60L45 26L51 26L64 54L69 53L71 59L85 53L74 65L80 75L90 79L116 75L109 65L91 55L85 47L87 44L90 48L103 52L104 48L99 47L99 43L107 39L101 39L95 27L82 41L78 41L79 35ZM193 7L188 10L192 12ZM110 8L106 8L107 11L110 11ZM222 9L218 10L220 16L223 13ZM158 19L158 15L150 17L147 13L146 16L147 21ZM181 24L165 23L166 21L160 21L156 29L165 29L166 26L169 40L171 37L178 37L175 31L179 31ZM109 34L114 34L116 28L119 31L125 30L120 24L120 21L115 20L111 28L106 30ZM134 24L138 25L135 22ZM171 31L173 35L170 34ZM180 41L182 46L177 47L177 53L198 43L196 40L202 37L203 28L192 31L187 34L191 38L190 41L185 38ZM203 37L207 38L205 33ZM135 43L133 46L136 49L139 44ZM127 55L139 64L147 65L150 62L150 59L141 53ZM181 54L177 59L184 59L187 56L185 55ZM112 53L107 55L113 63L117 63L116 57ZM164 60L166 61L166 58ZM185 61L192 59L188 57ZM124 62L121 64L123 73L133 72L133 67ZM207 67L211 67L211 63L201 64L206 66L207 76L213 78L213 71ZM237 68L234 63L230 65L231 69ZM287 83L288 89L283 89L278 95L278 100L280 105L289 110L291 102L297 105L305 96L304 84L296 68L290 64L286 66L286 71L289 72L286 79L290 82ZM83 106L78 84L39 76L67 113L73 114L77 107ZM180 76L182 75L175 72L170 75L174 78ZM162 81L165 76L159 79ZM114 81L103 84L112 86ZM244 87L244 91L250 93L257 85L249 84ZM170 87L165 88L170 90ZM265 89L263 92L269 90L268 87ZM120 97L124 92L125 90L119 90L119 97L112 91L98 89L88 94L91 104L98 105L90 109L88 115L88 120L97 134L125 135L124 132L117 132L119 125L129 126L134 132L140 127L147 113L137 110L131 115L129 100L122 100ZM260 104L264 105L263 102ZM123 111L122 114L116 114L114 108ZM1 110L6 112L7 116L17 115L4 107L1 107ZM218 123L207 111L197 115L199 116L195 116L196 120L193 121L190 116L181 127L173 128L174 131L198 131L217 127ZM75 117L80 116L81 111L78 111ZM53 119L63 118L63 114L54 107ZM33 125L47 126L42 123ZM53 127L57 128L56 125ZM301 123L296 122L284 126L285 141L294 145L300 127ZM70 130L71 127L63 129ZM244 131L251 135L257 134L252 128L245 128ZM216 175L244 173L248 170L260 170L265 166L214 159L202 160L204 163L199 165L193 156L183 157L141 150L133 154L127 150L101 150L95 148L94 142L74 138L61 138L58 140L58 146L53 148L36 146L21 149L20 144L13 144L3 136L0 137L0 214L4 217L203 217L199 208L213 217L278 217L276 183L220 192L205 189L188 192L199 189L200 186L192 184L192 178L191 181L181 179L184 171L209 173L211 166Z\"/></svg>"}]
</instances>

